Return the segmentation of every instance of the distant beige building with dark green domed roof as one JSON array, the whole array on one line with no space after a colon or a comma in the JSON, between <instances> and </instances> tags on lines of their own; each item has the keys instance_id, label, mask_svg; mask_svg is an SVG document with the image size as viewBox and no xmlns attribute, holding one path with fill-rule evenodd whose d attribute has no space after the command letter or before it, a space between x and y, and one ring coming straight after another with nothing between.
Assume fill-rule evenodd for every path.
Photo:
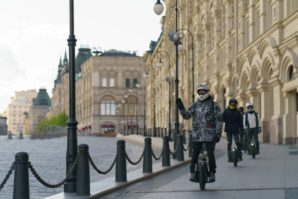
<instances>
[{"instance_id":1,"label":"distant beige building with dark green domed roof","mask_svg":"<svg viewBox=\"0 0 298 199\"><path fill-rule=\"evenodd\" d=\"M23 133L29 134L35 130L38 123L45 118L45 114L51 107L51 99L46 89L39 89L37 97L33 99L33 105L29 111L23 114Z\"/></svg>"}]
</instances>

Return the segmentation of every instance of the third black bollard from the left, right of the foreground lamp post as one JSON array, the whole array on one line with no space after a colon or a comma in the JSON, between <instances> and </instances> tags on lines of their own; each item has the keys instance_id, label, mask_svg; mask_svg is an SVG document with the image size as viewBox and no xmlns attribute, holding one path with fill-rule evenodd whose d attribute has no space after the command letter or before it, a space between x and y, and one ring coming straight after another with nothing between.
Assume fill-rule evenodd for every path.
<instances>
[{"instance_id":1,"label":"third black bollard from the left, right of the foreground lamp post","mask_svg":"<svg viewBox=\"0 0 298 199\"><path fill-rule=\"evenodd\" d=\"M126 157L125 157L125 140L119 139L117 141L117 150L120 147L120 152L116 160L116 175L115 182L126 182Z\"/></svg>"}]
</instances>

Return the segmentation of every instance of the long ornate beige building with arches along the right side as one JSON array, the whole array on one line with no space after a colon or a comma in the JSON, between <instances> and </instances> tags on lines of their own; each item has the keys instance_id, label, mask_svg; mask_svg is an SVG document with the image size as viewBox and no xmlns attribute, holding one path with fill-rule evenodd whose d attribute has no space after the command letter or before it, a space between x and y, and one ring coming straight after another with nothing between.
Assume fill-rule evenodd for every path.
<instances>
[{"instance_id":1,"label":"long ornate beige building with arches along the right side","mask_svg":"<svg viewBox=\"0 0 298 199\"><path fill-rule=\"evenodd\" d=\"M168 40L175 30L172 0L164 0L167 10L162 18L163 33L145 56L155 67L156 122L168 124L168 83L175 99L175 46ZM271 143L296 143L298 132L298 1L297 0L178 0L178 29L193 35L194 83L206 82L222 111L230 97L239 106L254 103L261 115L260 140ZM192 103L192 40L185 31L184 49L178 55L179 97L184 105ZM157 68L158 52L170 55L170 69ZM166 60L163 60L166 62ZM166 64L165 64L166 65ZM152 103L153 79L148 81L148 110ZM157 85L157 86L156 86ZM195 91L196 92L196 91ZM195 93L196 96L196 93ZM196 98L197 100L197 98ZM246 109L245 109L246 110ZM171 103L171 122L175 103ZM147 113L153 126L152 111ZM191 121L179 116L182 128Z\"/></svg>"}]
</instances>

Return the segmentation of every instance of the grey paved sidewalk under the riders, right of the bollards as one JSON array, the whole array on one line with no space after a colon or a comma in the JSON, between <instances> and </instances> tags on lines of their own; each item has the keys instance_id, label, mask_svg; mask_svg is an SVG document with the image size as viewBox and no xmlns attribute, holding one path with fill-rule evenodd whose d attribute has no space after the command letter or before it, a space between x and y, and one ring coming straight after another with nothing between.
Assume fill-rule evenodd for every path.
<instances>
[{"instance_id":1,"label":"grey paved sidewalk under the riders, right of the bollards","mask_svg":"<svg viewBox=\"0 0 298 199\"><path fill-rule=\"evenodd\" d=\"M226 139L216 147L216 182L201 191L189 165L123 188L104 199L298 199L298 156L287 145L261 144L256 159L243 153L238 167L227 162Z\"/></svg>"}]
</instances>

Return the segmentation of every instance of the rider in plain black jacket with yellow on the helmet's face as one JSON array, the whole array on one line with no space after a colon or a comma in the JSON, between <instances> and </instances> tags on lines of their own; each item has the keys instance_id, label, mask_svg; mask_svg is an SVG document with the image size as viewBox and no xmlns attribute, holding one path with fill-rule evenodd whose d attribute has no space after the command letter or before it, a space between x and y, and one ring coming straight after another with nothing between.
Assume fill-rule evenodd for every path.
<instances>
[{"instance_id":1,"label":"rider in plain black jacket with yellow on the helmet's face","mask_svg":"<svg viewBox=\"0 0 298 199\"><path fill-rule=\"evenodd\" d=\"M241 129L242 133L244 133L243 123L241 114L237 109L237 100L235 98L230 98L229 106L227 109L223 111L223 121L225 122L224 125L224 132L226 132L226 139L227 139L227 152L228 152L228 162L231 161L231 147L232 147L232 136L234 136L235 144L238 149L238 157L239 161L242 161L242 152L239 140L239 128Z\"/></svg>"}]
</instances>

